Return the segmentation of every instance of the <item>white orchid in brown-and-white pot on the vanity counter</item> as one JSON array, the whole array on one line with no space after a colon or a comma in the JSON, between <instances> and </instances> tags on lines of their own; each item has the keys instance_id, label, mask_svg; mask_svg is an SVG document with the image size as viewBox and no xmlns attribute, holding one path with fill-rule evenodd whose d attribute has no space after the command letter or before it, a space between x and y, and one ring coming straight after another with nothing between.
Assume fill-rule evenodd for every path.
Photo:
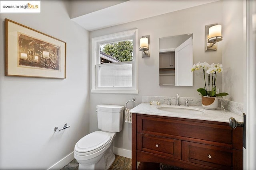
<instances>
[{"instance_id":1,"label":"white orchid in brown-and-white pot on the vanity counter","mask_svg":"<svg viewBox=\"0 0 256 170\"><path fill-rule=\"evenodd\" d=\"M204 63L194 64L191 71L200 70L202 68L204 75L204 88L198 88L197 91L202 96L202 106L204 109L215 110L218 107L218 98L227 96L228 93L222 92L216 94L216 79L217 73L223 71L222 64L214 64L211 65ZM206 71L205 71L206 70ZM208 74L208 84L206 84L206 73Z\"/></svg>"}]
</instances>

